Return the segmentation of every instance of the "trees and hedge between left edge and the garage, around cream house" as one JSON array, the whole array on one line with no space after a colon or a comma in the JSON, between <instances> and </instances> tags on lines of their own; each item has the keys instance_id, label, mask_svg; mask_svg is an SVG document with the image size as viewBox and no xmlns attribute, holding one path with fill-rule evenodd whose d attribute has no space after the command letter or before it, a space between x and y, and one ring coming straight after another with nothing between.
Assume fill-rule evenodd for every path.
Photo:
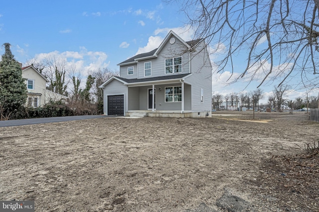
<instances>
[{"instance_id":1,"label":"trees and hedge between left edge and the garage, around cream house","mask_svg":"<svg viewBox=\"0 0 319 212\"><path fill-rule=\"evenodd\" d=\"M65 108L68 112L64 113L67 115L103 114L103 90L98 87L113 75L118 76L118 73L107 68L90 70L84 83L81 72L76 72L75 67L70 67L66 60L53 56L41 61L32 58L25 66L32 65L47 78L47 90L67 96L68 100L64 106L61 106L61 101L50 102L48 110L27 108L27 89L25 79L22 78L21 65L14 59L10 44L5 43L3 46L5 53L0 61L0 120L27 118L31 113L34 117L50 116L52 113L47 111L52 108Z\"/></svg>"}]
</instances>

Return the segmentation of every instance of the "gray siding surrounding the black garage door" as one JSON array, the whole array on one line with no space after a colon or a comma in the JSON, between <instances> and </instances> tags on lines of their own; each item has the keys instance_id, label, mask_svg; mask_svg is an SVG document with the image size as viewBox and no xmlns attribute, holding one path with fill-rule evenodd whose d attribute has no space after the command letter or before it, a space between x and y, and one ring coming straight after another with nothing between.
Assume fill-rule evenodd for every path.
<instances>
[{"instance_id":1,"label":"gray siding surrounding the black garage door","mask_svg":"<svg viewBox=\"0 0 319 212\"><path fill-rule=\"evenodd\" d=\"M128 87L118 80L112 80L104 87L104 114L107 114L108 96L124 95L124 112L128 111Z\"/></svg>"}]
</instances>

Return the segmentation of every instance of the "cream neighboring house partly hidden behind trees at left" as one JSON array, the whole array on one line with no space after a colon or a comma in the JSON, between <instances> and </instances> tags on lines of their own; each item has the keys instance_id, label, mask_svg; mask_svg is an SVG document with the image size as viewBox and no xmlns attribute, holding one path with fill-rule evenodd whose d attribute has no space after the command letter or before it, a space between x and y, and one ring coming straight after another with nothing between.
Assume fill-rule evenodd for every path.
<instances>
[{"instance_id":1,"label":"cream neighboring house partly hidden behind trees at left","mask_svg":"<svg viewBox=\"0 0 319 212\"><path fill-rule=\"evenodd\" d=\"M49 82L40 72L32 65L22 67L22 78L26 79L27 102L28 107L43 106L50 100L65 102L66 96L46 90L46 83Z\"/></svg>"}]
</instances>

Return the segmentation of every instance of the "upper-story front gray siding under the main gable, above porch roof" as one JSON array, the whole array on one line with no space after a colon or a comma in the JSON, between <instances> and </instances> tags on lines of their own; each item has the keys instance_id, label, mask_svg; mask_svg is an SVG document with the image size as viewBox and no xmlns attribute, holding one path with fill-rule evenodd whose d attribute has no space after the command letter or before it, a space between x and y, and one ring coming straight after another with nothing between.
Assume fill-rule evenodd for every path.
<instances>
[{"instance_id":1,"label":"upper-story front gray siding under the main gable, above porch roof","mask_svg":"<svg viewBox=\"0 0 319 212\"><path fill-rule=\"evenodd\" d=\"M157 58L139 61L138 79L147 78L147 77L144 77L144 63L152 62L152 76L149 76L149 77L160 77L160 76L165 76L165 59L179 57L179 56L182 57L182 72L173 73L170 75L189 73L189 53L187 52L182 54L182 52L185 52L185 51L187 51L187 47L177 38L175 38L174 44L170 44L169 42L167 42L161 49Z\"/></svg>"}]
</instances>

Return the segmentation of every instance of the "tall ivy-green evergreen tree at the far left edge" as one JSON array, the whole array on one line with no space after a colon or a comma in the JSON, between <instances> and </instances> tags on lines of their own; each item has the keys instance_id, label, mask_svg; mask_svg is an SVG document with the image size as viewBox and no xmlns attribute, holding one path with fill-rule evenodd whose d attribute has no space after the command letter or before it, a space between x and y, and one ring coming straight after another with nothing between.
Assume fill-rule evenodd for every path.
<instances>
[{"instance_id":1,"label":"tall ivy-green evergreen tree at the far left edge","mask_svg":"<svg viewBox=\"0 0 319 212\"><path fill-rule=\"evenodd\" d=\"M13 112L26 103L26 85L22 68L14 59L10 44L4 43L5 52L0 61L0 105L3 112Z\"/></svg>"}]
</instances>

